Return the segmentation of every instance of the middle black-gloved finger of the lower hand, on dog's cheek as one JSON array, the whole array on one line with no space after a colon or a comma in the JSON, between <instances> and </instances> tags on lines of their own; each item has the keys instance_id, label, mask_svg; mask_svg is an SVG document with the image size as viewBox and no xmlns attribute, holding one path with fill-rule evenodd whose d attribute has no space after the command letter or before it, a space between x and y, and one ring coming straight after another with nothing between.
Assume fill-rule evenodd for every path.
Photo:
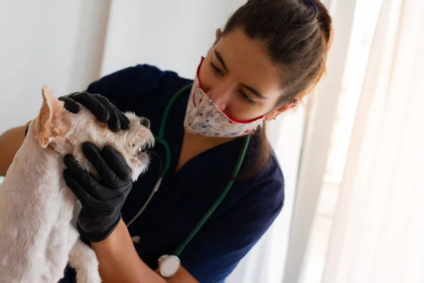
<instances>
[{"instance_id":1,"label":"middle black-gloved finger of the lower hand, on dog's cheek","mask_svg":"<svg viewBox=\"0 0 424 283\"><path fill-rule=\"evenodd\" d=\"M83 154L88 161L90 161L95 170L98 171L100 178L102 178L105 183L110 186L119 185L119 177L112 168L110 168L110 164L105 161L102 152L95 144L88 141L85 142L83 144Z\"/></svg>"}]
</instances>

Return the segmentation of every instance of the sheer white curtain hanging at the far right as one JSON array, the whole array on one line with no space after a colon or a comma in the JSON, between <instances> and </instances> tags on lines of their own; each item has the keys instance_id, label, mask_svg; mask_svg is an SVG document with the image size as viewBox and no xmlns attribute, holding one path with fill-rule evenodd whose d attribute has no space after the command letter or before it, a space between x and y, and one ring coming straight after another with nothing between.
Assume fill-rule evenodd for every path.
<instances>
[{"instance_id":1,"label":"sheer white curtain hanging at the far right","mask_svg":"<svg viewBox=\"0 0 424 283\"><path fill-rule=\"evenodd\" d=\"M324 283L424 282L424 1L384 0Z\"/></svg>"}]
</instances>

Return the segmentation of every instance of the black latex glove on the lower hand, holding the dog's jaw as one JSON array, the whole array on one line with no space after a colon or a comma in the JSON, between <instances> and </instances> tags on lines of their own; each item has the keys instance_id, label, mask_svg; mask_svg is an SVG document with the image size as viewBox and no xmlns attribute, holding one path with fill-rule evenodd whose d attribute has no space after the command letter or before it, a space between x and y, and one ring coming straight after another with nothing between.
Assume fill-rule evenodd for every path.
<instances>
[{"instance_id":1,"label":"black latex glove on the lower hand, holding the dog's jaw","mask_svg":"<svg viewBox=\"0 0 424 283\"><path fill-rule=\"evenodd\" d=\"M83 153L98 171L101 180L82 169L71 155L64 157L66 185L82 204L78 223L91 242L110 236L121 219L121 209L131 187L131 169L124 157L111 146L102 151L90 142L83 144Z\"/></svg>"}]
</instances>

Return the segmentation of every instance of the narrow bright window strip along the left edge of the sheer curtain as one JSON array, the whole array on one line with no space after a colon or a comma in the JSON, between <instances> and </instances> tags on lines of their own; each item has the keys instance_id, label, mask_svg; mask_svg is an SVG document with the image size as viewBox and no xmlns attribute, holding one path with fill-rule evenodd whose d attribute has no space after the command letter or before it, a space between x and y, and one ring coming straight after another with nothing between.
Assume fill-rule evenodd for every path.
<instances>
[{"instance_id":1,"label":"narrow bright window strip along the left edge of the sheer curtain","mask_svg":"<svg viewBox=\"0 0 424 283\"><path fill-rule=\"evenodd\" d=\"M329 241L339 187L343 179L351 130L380 5L381 1L356 1L348 57L343 74L336 120L334 120L331 135L331 148L307 246L301 283L319 283L322 281L326 246ZM325 93L320 95L324 96Z\"/></svg>"}]
</instances>

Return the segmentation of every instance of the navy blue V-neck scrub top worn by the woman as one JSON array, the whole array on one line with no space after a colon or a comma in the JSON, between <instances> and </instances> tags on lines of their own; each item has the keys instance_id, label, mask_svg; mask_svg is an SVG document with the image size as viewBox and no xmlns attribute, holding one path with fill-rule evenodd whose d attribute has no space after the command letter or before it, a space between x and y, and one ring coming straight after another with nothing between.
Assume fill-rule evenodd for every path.
<instances>
[{"instance_id":1,"label":"navy blue V-neck scrub top worn by the woman","mask_svg":"<svg viewBox=\"0 0 424 283\"><path fill-rule=\"evenodd\" d=\"M192 83L172 71L139 64L117 71L91 83L87 91L100 93L122 111L151 120L154 135L159 132L163 112L179 88ZM228 183L243 139L204 151L188 161L177 173L184 134L184 115L189 91L175 103L166 124L165 139L170 144L170 170L144 212L129 227L140 258L152 270L158 258L172 254L200 221ZM252 166L258 154L259 137L253 136L241 171ZM153 149L165 161L160 144ZM122 218L128 223L146 202L158 180L160 159L151 155L148 171L139 177L122 208ZM179 256L182 266L199 282L224 282L237 263L247 254L269 228L283 207L284 179L276 156L259 175L236 180L220 206L206 221ZM88 243L81 233L83 241ZM75 272L66 270L61 282L74 282Z\"/></svg>"}]
</instances>

